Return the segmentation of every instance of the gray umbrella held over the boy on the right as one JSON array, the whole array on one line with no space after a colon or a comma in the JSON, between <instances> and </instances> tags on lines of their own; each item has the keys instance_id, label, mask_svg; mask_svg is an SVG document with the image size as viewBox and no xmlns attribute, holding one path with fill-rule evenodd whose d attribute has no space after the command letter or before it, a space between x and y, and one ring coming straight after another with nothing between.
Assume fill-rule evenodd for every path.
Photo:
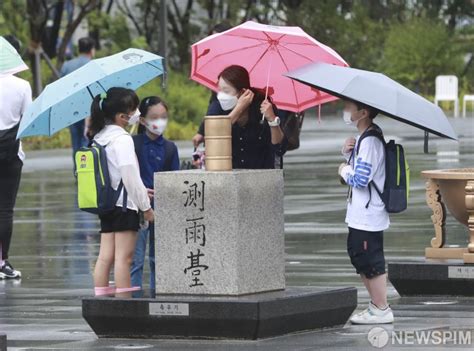
<instances>
[{"instance_id":1,"label":"gray umbrella held over the boy on the right","mask_svg":"<svg viewBox=\"0 0 474 351\"><path fill-rule=\"evenodd\" d=\"M331 95L362 102L398 121L457 140L438 106L381 73L311 63L285 75Z\"/></svg>"}]
</instances>

